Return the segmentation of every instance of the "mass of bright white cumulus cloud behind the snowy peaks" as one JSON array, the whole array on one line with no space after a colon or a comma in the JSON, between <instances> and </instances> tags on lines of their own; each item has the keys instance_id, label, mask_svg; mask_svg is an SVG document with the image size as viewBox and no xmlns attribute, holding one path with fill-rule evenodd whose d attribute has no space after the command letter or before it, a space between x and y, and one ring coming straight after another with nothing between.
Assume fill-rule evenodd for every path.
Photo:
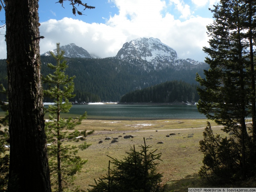
<instances>
[{"instance_id":1,"label":"mass of bright white cumulus cloud behind the snowy peaks","mask_svg":"<svg viewBox=\"0 0 256 192\"><path fill-rule=\"evenodd\" d=\"M187 17L187 20L175 19L166 11L170 4L163 0L111 0L119 12L106 19L105 24L89 24L71 18L45 21L40 26L40 34L45 37L40 41L40 53L55 49L57 42L60 45L75 43L104 58L116 56L123 44L132 39L154 37L175 49L180 58L203 61L206 54L202 47L208 45L209 39L206 25L212 19L193 16L183 0L168 2L175 4L180 17Z\"/></svg>"}]
</instances>

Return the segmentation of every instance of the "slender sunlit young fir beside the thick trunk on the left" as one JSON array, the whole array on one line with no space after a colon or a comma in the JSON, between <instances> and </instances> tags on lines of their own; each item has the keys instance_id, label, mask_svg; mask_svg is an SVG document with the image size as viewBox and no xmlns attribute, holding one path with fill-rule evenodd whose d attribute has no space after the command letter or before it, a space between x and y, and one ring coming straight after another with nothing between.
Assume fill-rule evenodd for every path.
<instances>
[{"instance_id":1,"label":"slender sunlit young fir beside the thick trunk on the left","mask_svg":"<svg viewBox=\"0 0 256 192\"><path fill-rule=\"evenodd\" d=\"M49 74L44 78L45 83L49 83L50 89L45 90L44 94L51 99L54 99L54 105L49 105L46 112L49 112L49 121L45 124L45 132L47 135L47 142L54 143L48 145L49 168L51 174L52 191L66 191L72 186L72 181L76 172L81 170L86 163L80 156L77 156L78 149L86 149L90 145L84 144L79 146L71 146L63 143L63 140L77 140L79 136L86 137L92 132L74 130L74 127L81 124L82 120L86 118L86 112L73 119L69 117L64 119L60 117L60 112L68 113L72 107L68 99L74 97L73 77L65 75L65 69L68 67L64 60L64 51L60 50L60 44L57 43L57 52L52 57L56 60L56 65L48 63L48 67L54 69L53 74ZM61 62L62 61L62 62ZM63 102L64 101L64 102ZM54 116L52 116L54 115ZM78 188L72 189L78 190Z\"/></svg>"}]
</instances>

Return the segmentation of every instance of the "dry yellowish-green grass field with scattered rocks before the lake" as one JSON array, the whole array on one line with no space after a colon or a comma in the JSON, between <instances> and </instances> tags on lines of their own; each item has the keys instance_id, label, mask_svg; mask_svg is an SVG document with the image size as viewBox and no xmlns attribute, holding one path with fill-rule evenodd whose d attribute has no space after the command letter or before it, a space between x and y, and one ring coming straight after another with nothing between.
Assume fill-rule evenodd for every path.
<instances>
[{"instance_id":1,"label":"dry yellowish-green grass field with scattered rocks before the lake","mask_svg":"<svg viewBox=\"0 0 256 192\"><path fill-rule=\"evenodd\" d=\"M216 126L212 121L211 124L215 133L224 134L221 127ZM77 174L76 185L80 185L84 190L89 188L89 184L94 184L94 179L107 174L108 160L110 160L107 155L122 160L126 155L125 152L129 151L133 145L139 151L139 146L143 144L143 137L145 137L146 144L151 146L150 150L157 149L157 152L162 153L163 161L159 162L158 172L163 173L163 185L166 184L166 192L188 191L188 187L205 187L208 184L200 180L197 174L202 166L203 154L199 151L199 140L203 139L202 132L205 126L205 119L84 120L77 128L95 130L95 132L86 138L86 142L92 145L80 151L79 155L88 162ZM175 135L166 137L170 133L175 133ZM124 139L124 135L128 134L135 137ZM118 142L111 143L111 140L105 140L106 137L111 137L111 139L118 137ZM99 144L100 140L103 143ZM157 144L159 141L163 143Z\"/></svg>"}]
</instances>

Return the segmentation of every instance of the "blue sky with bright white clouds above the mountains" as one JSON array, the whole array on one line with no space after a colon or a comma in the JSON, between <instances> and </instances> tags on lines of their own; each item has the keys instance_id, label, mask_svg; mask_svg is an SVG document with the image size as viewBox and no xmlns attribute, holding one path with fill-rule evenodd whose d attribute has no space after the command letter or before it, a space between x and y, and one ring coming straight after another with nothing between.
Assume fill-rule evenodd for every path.
<instances>
[{"instance_id":1,"label":"blue sky with bright white clouds above the mountains","mask_svg":"<svg viewBox=\"0 0 256 192\"><path fill-rule=\"evenodd\" d=\"M78 7L82 16L72 14L68 1L39 1L40 52L75 43L101 58L116 56L125 42L154 37L176 50L178 57L204 61L208 46L206 25L212 21L208 10L218 0L82 0L95 9ZM4 20L4 11L0 12ZM0 34L5 29L0 28ZM4 35L0 35L0 59L6 58Z\"/></svg>"}]
</instances>

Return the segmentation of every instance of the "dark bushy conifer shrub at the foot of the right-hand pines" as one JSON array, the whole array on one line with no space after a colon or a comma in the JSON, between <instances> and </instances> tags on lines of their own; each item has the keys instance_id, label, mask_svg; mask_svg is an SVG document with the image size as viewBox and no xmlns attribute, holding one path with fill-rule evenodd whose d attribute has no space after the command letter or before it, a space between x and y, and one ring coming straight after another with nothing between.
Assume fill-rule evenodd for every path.
<instances>
[{"instance_id":1,"label":"dark bushy conifer shrub at the foot of the right-hand pines","mask_svg":"<svg viewBox=\"0 0 256 192\"><path fill-rule=\"evenodd\" d=\"M199 175L219 183L239 179L237 175L241 175L239 162L242 161L242 155L235 137L230 135L229 138L221 138L219 134L214 134L208 121L203 136L204 139L199 144L204 153L204 165L200 168Z\"/></svg>"}]
</instances>

